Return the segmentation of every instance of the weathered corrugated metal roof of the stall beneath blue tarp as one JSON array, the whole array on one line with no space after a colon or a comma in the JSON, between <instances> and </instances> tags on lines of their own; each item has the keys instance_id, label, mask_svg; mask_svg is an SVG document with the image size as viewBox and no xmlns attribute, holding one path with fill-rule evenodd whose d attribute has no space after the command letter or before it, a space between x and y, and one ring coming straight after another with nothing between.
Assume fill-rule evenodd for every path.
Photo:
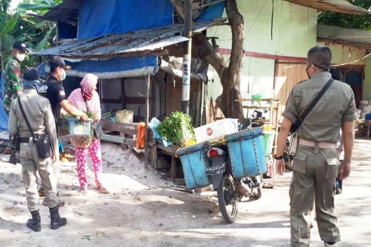
<instances>
[{"instance_id":1,"label":"weathered corrugated metal roof of the stall beneath blue tarp","mask_svg":"<svg viewBox=\"0 0 371 247\"><path fill-rule=\"evenodd\" d=\"M193 33L199 33L219 21L206 21L193 24ZM89 59L117 56L151 54L162 47L189 40L184 37L183 24L172 24L157 29L132 31L125 34L108 34L91 39L73 41L62 46L32 53L32 56L61 56L74 59Z\"/></svg>"}]
</instances>

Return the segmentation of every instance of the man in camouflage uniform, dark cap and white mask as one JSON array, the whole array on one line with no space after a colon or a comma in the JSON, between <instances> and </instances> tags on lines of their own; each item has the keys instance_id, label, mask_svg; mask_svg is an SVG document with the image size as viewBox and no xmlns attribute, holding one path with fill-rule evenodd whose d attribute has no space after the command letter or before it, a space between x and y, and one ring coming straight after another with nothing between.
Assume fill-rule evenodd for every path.
<instances>
[{"instance_id":1,"label":"man in camouflage uniform, dark cap and white mask","mask_svg":"<svg viewBox=\"0 0 371 247\"><path fill-rule=\"evenodd\" d=\"M21 66L26 57L26 44L21 41L15 41L13 44L13 53L5 67L5 85L3 93L3 104L6 113L9 116L10 104L12 100L17 99L23 92ZM9 163L20 163L16 150L13 147L13 140L9 137L9 145L3 153L10 153Z\"/></svg>"}]
</instances>

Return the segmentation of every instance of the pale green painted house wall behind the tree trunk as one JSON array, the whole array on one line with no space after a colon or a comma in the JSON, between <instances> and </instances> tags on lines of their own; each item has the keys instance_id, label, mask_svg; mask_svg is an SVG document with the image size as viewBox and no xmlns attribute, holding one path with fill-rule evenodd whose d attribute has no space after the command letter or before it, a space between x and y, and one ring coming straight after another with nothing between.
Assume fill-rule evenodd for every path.
<instances>
[{"instance_id":1,"label":"pale green painted house wall behind the tree trunk","mask_svg":"<svg viewBox=\"0 0 371 247\"><path fill-rule=\"evenodd\" d=\"M274 6L273 6L274 3ZM238 8L244 17L244 50L278 56L306 57L307 51L316 45L317 10L287 1L238 0ZM273 8L273 36L271 37ZM225 15L225 13L224 13ZM229 26L213 27L207 36L216 36L220 48L231 49L232 33ZM229 56L224 56L226 60ZM275 60L245 57L241 75L242 96L247 93L263 93L271 97ZM208 99L221 94L219 76L210 66Z\"/></svg>"}]
</instances>

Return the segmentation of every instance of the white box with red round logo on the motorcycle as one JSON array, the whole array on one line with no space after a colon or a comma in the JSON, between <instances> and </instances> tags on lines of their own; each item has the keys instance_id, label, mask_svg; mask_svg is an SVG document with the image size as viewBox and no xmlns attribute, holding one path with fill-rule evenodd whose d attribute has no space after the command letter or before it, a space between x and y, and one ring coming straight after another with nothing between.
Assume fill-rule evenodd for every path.
<instances>
[{"instance_id":1,"label":"white box with red round logo on the motorcycle","mask_svg":"<svg viewBox=\"0 0 371 247\"><path fill-rule=\"evenodd\" d=\"M194 129L197 143L223 138L238 131L238 119L222 119Z\"/></svg>"}]
</instances>

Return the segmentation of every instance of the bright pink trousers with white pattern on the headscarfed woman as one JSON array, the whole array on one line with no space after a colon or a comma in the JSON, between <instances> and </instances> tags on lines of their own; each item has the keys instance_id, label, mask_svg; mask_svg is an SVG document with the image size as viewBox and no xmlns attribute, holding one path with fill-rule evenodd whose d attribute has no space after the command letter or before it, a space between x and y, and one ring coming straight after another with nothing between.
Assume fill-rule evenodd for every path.
<instances>
[{"instance_id":1,"label":"bright pink trousers with white pattern on the headscarfed woman","mask_svg":"<svg viewBox=\"0 0 371 247\"><path fill-rule=\"evenodd\" d=\"M85 189L88 186L88 150L92 158L93 169L95 173L95 183L102 184L102 153L101 140L92 141L90 147L78 148L75 147L77 173L79 176L80 187Z\"/></svg>"}]
</instances>

